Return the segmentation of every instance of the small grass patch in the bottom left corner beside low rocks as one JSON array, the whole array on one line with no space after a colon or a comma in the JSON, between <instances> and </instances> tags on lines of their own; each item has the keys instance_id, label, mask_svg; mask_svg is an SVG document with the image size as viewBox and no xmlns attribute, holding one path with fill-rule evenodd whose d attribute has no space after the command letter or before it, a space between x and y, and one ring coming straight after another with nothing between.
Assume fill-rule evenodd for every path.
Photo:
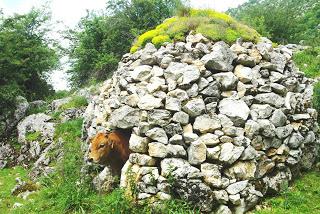
<instances>
[{"instance_id":1,"label":"small grass patch in the bottom left corner beside low rocks","mask_svg":"<svg viewBox=\"0 0 320 214\"><path fill-rule=\"evenodd\" d=\"M20 166L0 170L0 213L11 213L15 202L24 203L23 199L11 195L11 189L16 185L17 177L25 179L27 171Z\"/></svg>"}]
</instances>

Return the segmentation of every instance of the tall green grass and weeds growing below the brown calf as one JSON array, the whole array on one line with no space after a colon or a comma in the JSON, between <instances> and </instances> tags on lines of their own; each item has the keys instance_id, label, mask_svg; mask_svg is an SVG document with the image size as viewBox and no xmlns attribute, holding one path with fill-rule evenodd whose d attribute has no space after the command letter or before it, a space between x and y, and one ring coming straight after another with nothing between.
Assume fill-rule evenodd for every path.
<instances>
[{"instance_id":1,"label":"tall green grass and weeds growing below the brown calf","mask_svg":"<svg viewBox=\"0 0 320 214\"><path fill-rule=\"evenodd\" d=\"M18 200L24 206L12 213L199 213L195 207L182 200L166 201L161 210L154 210L147 204L139 205L130 201L121 189L108 195L97 194L81 174L84 155L81 150L81 126L81 119L58 125L55 136L56 140L63 138L64 157L57 164L57 171L50 177L41 179L41 190L32 195L32 201ZM1 173L0 171L0 175ZM14 182L4 183L1 179L14 180L14 176L8 170L3 174L5 177L0 177L0 182L6 185L3 197L8 198L10 203L7 202L6 209L9 209L12 202L17 201L16 197L10 196ZM25 172L23 175L21 177L25 178ZM0 206L0 211L1 208Z\"/></svg>"}]
</instances>

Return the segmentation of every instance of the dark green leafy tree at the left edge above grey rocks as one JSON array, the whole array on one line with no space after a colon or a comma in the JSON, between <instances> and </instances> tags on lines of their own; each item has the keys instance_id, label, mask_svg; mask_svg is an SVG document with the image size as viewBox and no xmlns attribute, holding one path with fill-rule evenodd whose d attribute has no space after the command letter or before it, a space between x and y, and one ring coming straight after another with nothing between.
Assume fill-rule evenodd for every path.
<instances>
[{"instance_id":1,"label":"dark green leafy tree at the left edge above grey rocks","mask_svg":"<svg viewBox=\"0 0 320 214\"><path fill-rule=\"evenodd\" d=\"M0 17L0 115L14 109L17 95L43 99L53 92L46 82L57 68L58 54L48 39L50 16L32 9L24 15Z\"/></svg>"}]
</instances>

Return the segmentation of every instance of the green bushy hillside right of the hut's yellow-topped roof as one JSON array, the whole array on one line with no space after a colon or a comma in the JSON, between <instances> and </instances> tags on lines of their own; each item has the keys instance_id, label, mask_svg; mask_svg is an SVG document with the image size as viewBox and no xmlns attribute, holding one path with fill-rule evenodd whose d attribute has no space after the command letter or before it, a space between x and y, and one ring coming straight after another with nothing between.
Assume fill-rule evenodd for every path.
<instances>
[{"instance_id":1,"label":"green bushy hillside right of the hut's yellow-topped roof","mask_svg":"<svg viewBox=\"0 0 320 214\"><path fill-rule=\"evenodd\" d=\"M318 0L249 0L228 12L278 43L320 42Z\"/></svg>"}]
</instances>

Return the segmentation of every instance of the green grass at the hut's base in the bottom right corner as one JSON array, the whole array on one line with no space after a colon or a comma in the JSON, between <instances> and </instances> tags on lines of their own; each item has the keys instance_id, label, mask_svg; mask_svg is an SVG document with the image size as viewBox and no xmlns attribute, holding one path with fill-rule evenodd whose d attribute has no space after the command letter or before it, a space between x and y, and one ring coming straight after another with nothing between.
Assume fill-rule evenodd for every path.
<instances>
[{"instance_id":1,"label":"green grass at the hut's base in the bottom right corner","mask_svg":"<svg viewBox=\"0 0 320 214\"><path fill-rule=\"evenodd\" d=\"M264 201L256 214L317 214L320 210L320 172L310 172L279 196Z\"/></svg>"}]
</instances>

